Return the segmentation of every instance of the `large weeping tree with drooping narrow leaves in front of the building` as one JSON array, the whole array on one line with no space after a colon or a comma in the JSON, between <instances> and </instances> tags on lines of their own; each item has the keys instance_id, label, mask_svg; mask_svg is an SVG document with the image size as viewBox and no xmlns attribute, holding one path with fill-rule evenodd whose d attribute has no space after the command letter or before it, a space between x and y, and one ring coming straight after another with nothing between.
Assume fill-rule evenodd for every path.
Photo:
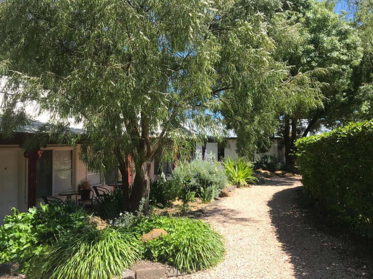
<instances>
[{"instance_id":1,"label":"large weeping tree with drooping narrow leaves in front of the building","mask_svg":"<svg viewBox=\"0 0 373 279\"><path fill-rule=\"evenodd\" d=\"M131 195L123 179L123 206L134 211L148 201L156 155L188 154L207 133L222 137L229 116L238 131L273 131L289 68L275 61L269 28L252 1L1 1L0 126L24 124L22 104L31 101L51 114L43 134L79 140L90 169L109 174L119 166L124 174L129 155L135 179ZM82 123L84 136L52 131L68 118Z\"/></svg>"}]
</instances>

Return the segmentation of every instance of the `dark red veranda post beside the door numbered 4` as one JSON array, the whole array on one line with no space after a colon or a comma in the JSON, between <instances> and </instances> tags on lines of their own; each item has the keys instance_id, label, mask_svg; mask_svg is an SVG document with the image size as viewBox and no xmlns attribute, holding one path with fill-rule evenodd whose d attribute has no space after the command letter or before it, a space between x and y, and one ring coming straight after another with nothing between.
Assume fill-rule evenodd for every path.
<instances>
[{"instance_id":1,"label":"dark red veranda post beside the door numbered 4","mask_svg":"<svg viewBox=\"0 0 373 279\"><path fill-rule=\"evenodd\" d=\"M28 158L28 188L27 206L31 208L36 205L36 161L43 155L43 151L30 151L23 153Z\"/></svg>"}]
</instances>

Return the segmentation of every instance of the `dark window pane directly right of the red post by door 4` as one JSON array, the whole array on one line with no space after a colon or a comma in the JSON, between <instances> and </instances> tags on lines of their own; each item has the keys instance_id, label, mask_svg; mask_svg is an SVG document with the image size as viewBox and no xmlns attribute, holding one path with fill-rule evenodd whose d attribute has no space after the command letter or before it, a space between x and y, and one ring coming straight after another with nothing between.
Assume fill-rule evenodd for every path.
<instances>
[{"instance_id":1,"label":"dark window pane directly right of the red post by door 4","mask_svg":"<svg viewBox=\"0 0 373 279\"><path fill-rule=\"evenodd\" d=\"M52 195L52 150L43 150L36 161L36 198Z\"/></svg>"}]
</instances>

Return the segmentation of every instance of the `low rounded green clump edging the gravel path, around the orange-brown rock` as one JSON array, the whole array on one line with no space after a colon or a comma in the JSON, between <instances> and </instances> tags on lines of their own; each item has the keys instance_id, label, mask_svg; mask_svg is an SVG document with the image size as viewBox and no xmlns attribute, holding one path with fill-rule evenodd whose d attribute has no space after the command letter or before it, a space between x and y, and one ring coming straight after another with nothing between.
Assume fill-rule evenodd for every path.
<instances>
[{"instance_id":1,"label":"low rounded green clump edging the gravel path, around the orange-brown rock","mask_svg":"<svg viewBox=\"0 0 373 279\"><path fill-rule=\"evenodd\" d=\"M224 258L223 237L201 220L153 216L140 224L141 233L162 228L167 235L146 241L145 256L178 270L207 269Z\"/></svg>"}]
</instances>

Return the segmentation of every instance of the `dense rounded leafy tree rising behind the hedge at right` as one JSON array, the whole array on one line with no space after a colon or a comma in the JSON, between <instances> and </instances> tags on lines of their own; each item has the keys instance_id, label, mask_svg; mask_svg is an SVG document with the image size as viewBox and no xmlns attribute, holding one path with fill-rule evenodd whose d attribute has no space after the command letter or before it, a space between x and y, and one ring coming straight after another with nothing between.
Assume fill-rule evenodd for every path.
<instances>
[{"instance_id":1,"label":"dense rounded leafy tree rising behind the hedge at right","mask_svg":"<svg viewBox=\"0 0 373 279\"><path fill-rule=\"evenodd\" d=\"M307 72L322 85L322 103L313 107L294 103L291 112L284 110L279 134L284 138L287 164L294 163L291 153L298 137L307 136L320 124L340 124L347 114L352 120L354 104L360 99L352 82L354 67L362 55L360 39L333 7L331 2L310 0L304 9L298 7L293 13L304 31L304 40L295 51L283 52L282 56L294 65L292 76Z\"/></svg>"}]
</instances>

